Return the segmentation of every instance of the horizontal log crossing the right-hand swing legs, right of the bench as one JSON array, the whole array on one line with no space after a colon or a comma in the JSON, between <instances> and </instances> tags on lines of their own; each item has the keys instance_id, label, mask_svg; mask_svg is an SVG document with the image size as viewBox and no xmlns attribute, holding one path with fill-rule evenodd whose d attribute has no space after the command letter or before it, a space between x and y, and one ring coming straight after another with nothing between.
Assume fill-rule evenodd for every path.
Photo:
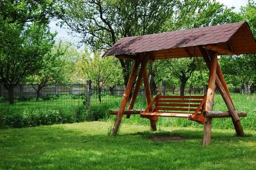
<instances>
[{"instance_id":1,"label":"horizontal log crossing the right-hand swing legs, right of the bench","mask_svg":"<svg viewBox=\"0 0 256 170\"><path fill-rule=\"evenodd\" d=\"M205 118L227 118L231 117L229 111L204 111ZM236 111L238 117L246 117L246 111Z\"/></svg>"}]
</instances>

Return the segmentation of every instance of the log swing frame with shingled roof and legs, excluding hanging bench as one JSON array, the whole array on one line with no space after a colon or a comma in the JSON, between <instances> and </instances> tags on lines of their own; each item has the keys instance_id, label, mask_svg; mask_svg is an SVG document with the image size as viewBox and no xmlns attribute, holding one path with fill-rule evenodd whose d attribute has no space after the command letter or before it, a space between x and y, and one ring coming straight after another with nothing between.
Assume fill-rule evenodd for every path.
<instances>
[{"instance_id":1,"label":"log swing frame with shingled roof and legs, excluding hanging bench","mask_svg":"<svg viewBox=\"0 0 256 170\"><path fill-rule=\"evenodd\" d=\"M205 34L207 32L209 35ZM238 41L241 39L246 43L239 43ZM168 44L168 42L175 43ZM193 50L195 51L194 54L192 53ZM194 56L195 53L197 53L197 56ZM123 93L119 109L110 110L110 114L117 114L110 135L117 135L123 114L126 114L127 118L129 118L131 114L141 114L141 117L146 117L150 120L151 129L153 131L156 130L156 121L158 121L159 114L154 114L152 112L154 110L152 105L156 101L156 98L151 98L146 67L148 62L157 59L201 56L209 69L208 90L205 96L205 102L203 102L204 110L202 110L203 114L201 113L199 115L200 121L197 120L197 122L203 123L204 125L203 145L210 144L212 118L231 117L237 136L243 136L240 116L246 116L246 113L245 111L236 111L228 86L226 85L224 76L221 72L220 65L218 64L217 56L245 53L256 53L256 42L251 34L249 25L246 22L173 31L162 34L135 36L118 40L118 42L115 43L104 56L114 55L119 60L134 60L134 65L125 92ZM139 65L141 65L141 67L138 73L137 82L134 86L129 106L127 110L125 110L133 83L137 77ZM147 108L144 111L133 110L142 81L146 94ZM228 111L213 111L215 85L224 99ZM148 114L146 115L146 113ZM196 121L196 116L197 115L192 114L189 119Z\"/></svg>"}]
</instances>

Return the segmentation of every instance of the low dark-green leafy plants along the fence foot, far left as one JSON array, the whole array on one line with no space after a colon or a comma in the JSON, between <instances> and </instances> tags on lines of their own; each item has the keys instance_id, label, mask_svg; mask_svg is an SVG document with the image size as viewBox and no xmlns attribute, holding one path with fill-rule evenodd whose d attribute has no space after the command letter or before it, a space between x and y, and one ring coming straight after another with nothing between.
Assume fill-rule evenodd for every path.
<instances>
[{"instance_id":1,"label":"low dark-green leafy plants along the fence foot, far left","mask_svg":"<svg viewBox=\"0 0 256 170\"><path fill-rule=\"evenodd\" d=\"M65 109L24 109L9 110L9 114L0 114L2 127L28 127L73 123L85 121L83 107Z\"/></svg>"}]
</instances>

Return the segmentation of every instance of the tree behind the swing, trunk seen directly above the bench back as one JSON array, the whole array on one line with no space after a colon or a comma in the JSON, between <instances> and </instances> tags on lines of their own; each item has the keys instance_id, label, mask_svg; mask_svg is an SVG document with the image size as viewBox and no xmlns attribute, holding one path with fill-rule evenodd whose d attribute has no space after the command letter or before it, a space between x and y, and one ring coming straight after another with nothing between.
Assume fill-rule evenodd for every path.
<instances>
[{"instance_id":1,"label":"tree behind the swing, trunk seen directly above the bench back","mask_svg":"<svg viewBox=\"0 0 256 170\"><path fill-rule=\"evenodd\" d=\"M168 18L163 31L174 31L189 28L207 27L217 24L235 22L240 16L216 1L189 0L180 1L175 14ZM196 55L193 53L192 55ZM203 60L194 62L193 59L172 59L167 67L180 80L180 95L184 95L185 85L191 74L198 70ZM199 70L198 70L199 71Z\"/></svg>"}]
</instances>

